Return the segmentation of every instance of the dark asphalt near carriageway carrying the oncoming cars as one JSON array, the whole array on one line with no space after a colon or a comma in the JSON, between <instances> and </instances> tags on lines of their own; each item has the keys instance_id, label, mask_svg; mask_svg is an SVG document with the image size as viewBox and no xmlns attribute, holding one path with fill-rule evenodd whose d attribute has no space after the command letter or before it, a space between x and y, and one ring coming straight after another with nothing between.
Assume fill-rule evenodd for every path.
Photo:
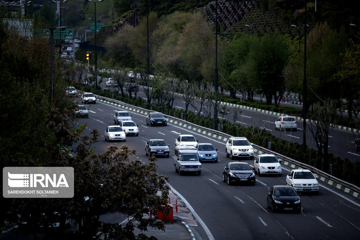
<instances>
[{"instance_id":1,"label":"dark asphalt near carriageway carrying the oncoming cars","mask_svg":"<svg viewBox=\"0 0 360 240\"><path fill-rule=\"evenodd\" d=\"M170 185L181 194L198 215L195 234L202 239L355 239L360 235L360 200L323 182L319 195L302 195L302 212L272 213L266 207L266 195L273 185L284 185L285 175L291 170L283 167L283 176L256 175L255 186L228 186L222 181L222 170L230 160L225 156L225 142L168 123L167 126L147 126L145 115L132 112L132 120L139 125L139 136L127 137L126 142L105 142L104 130L113 125L115 111L119 107L97 101L89 108L89 118L83 134L91 130L102 133L95 145L95 153L104 153L109 146L122 146L136 150L138 159L147 163L145 142L161 138L170 144L170 158L159 158L158 173L170 175ZM243 111L244 119L253 117ZM270 120L269 120L270 121ZM272 120L271 120L272 121ZM203 171L197 174L175 173L173 159L175 138L178 134L193 134L199 142L212 143L219 149L218 163L203 163ZM241 160L249 164L253 160Z\"/></svg>"}]
</instances>

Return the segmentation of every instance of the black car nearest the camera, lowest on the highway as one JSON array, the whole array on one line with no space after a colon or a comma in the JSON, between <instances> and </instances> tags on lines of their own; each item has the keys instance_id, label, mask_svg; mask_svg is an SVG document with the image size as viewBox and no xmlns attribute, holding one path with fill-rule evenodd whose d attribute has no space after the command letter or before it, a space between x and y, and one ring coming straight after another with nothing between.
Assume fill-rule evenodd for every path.
<instances>
[{"instance_id":1,"label":"black car nearest the camera, lowest on the highway","mask_svg":"<svg viewBox=\"0 0 360 240\"><path fill-rule=\"evenodd\" d=\"M267 208L272 212L283 210L301 213L300 196L292 186L272 186L267 193Z\"/></svg>"}]
</instances>

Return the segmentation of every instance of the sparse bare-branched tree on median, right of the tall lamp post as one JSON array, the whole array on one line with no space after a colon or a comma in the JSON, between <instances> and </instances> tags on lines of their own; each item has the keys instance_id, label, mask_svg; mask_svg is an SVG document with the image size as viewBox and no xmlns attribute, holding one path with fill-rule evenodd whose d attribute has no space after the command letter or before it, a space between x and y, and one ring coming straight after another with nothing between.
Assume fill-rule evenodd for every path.
<instances>
[{"instance_id":1,"label":"sparse bare-branched tree on median, right of the tall lamp post","mask_svg":"<svg viewBox=\"0 0 360 240\"><path fill-rule=\"evenodd\" d=\"M321 170L327 171L329 133L336 126L339 115L337 114L335 102L330 99L327 99L324 102L315 103L313 108L314 110L312 111L309 129L316 141L318 154L323 156Z\"/></svg>"}]
</instances>

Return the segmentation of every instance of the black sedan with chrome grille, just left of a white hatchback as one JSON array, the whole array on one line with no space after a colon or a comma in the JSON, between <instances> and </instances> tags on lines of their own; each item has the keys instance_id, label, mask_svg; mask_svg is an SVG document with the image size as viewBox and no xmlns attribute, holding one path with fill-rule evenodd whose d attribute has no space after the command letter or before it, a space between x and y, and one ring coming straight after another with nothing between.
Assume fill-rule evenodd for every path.
<instances>
[{"instance_id":1,"label":"black sedan with chrome grille, just left of a white hatchback","mask_svg":"<svg viewBox=\"0 0 360 240\"><path fill-rule=\"evenodd\" d=\"M222 181L228 185L233 183L248 183L255 185L255 173L249 164L243 162L233 162L226 164L222 173Z\"/></svg>"}]
</instances>

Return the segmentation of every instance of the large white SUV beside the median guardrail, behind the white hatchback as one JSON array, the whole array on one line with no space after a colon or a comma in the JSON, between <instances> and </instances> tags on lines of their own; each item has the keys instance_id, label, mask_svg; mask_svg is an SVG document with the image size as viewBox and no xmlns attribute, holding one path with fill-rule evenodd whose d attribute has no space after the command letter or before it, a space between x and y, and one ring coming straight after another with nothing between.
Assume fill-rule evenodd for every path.
<instances>
[{"instance_id":1,"label":"large white SUV beside the median guardrail, behind the white hatchback","mask_svg":"<svg viewBox=\"0 0 360 240\"><path fill-rule=\"evenodd\" d=\"M254 159L254 144L250 143L246 137L230 137L226 142L226 157L235 159L235 157L249 157Z\"/></svg>"}]
</instances>

